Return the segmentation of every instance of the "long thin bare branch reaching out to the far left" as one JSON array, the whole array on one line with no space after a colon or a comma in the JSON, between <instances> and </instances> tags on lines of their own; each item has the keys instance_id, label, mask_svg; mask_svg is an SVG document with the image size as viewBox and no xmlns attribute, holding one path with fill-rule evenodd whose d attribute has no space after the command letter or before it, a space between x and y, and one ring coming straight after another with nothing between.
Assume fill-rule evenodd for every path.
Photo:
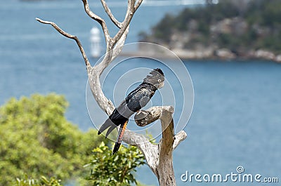
<instances>
[{"instance_id":1,"label":"long thin bare branch reaching out to the far left","mask_svg":"<svg viewBox=\"0 0 281 186\"><path fill-rule=\"evenodd\" d=\"M84 61L85 61L85 64L86 64L86 69L87 71L89 71L91 69L91 63L89 62L88 58L87 58L87 55L84 51L84 48L82 47L79 39L77 38L77 36L73 36L71 34L68 34L67 32L63 31L63 29L60 29L60 27L58 27L58 25L55 25L54 22L50 22L50 21L45 21L45 20L41 20L39 18L36 18L37 21L41 22L41 23L44 23L44 24L47 24L47 25L52 25L60 34L62 34L63 36L66 36L70 39L74 39L80 49L80 52L81 54L83 55L83 58L84 58Z\"/></svg>"}]
</instances>

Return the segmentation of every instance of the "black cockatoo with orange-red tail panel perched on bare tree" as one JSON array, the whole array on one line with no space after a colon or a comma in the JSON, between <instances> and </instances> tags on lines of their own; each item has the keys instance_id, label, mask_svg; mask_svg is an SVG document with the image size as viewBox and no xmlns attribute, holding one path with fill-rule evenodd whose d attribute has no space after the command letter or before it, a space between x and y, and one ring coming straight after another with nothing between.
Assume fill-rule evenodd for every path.
<instances>
[{"instance_id":1,"label":"black cockatoo with orange-red tail panel perched on bare tree","mask_svg":"<svg viewBox=\"0 0 281 186\"><path fill-rule=\"evenodd\" d=\"M98 135L108 128L105 138L107 138L107 135L109 135L113 129L120 126L112 154L115 154L119 150L129 117L148 104L150 98L155 94L155 91L163 86L164 74L162 70L159 68L153 69L152 72L150 72L150 75L143 79L143 83L141 83L135 90L131 91L126 99L121 102L119 107L112 112L105 123L100 126Z\"/></svg>"}]
</instances>

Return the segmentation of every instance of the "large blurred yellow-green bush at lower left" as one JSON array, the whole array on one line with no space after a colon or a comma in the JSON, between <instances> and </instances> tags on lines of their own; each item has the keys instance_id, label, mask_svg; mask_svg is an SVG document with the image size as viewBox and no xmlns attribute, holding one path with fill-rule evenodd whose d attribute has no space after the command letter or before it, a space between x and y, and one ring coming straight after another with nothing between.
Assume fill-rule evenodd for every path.
<instances>
[{"instance_id":1,"label":"large blurred yellow-green bush at lower left","mask_svg":"<svg viewBox=\"0 0 281 186\"><path fill-rule=\"evenodd\" d=\"M25 173L62 180L83 174L82 165L100 138L67 121L67 105L62 95L51 93L12 98L0 107L0 185Z\"/></svg>"}]
</instances>

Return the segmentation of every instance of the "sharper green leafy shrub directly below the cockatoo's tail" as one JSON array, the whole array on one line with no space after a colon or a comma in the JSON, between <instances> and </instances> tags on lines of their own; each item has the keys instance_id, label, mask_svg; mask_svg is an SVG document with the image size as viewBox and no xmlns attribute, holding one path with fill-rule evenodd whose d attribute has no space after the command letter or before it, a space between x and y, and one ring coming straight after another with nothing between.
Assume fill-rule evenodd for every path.
<instances>
[{"instance_id":1,"label":"sharper green leafy shrub directly below the cockatoo's tail","mask_svg":"<svg viewBox=\"0 0 281 186\"><path fill-rule=\"evenodd\" d=\"M117 154L101 143L93 150L91 175L86 178L91 185L131 185L136 183L133 172L145 164L143 154L137 147L121 147Z\"/></svg>"}]
</instances>

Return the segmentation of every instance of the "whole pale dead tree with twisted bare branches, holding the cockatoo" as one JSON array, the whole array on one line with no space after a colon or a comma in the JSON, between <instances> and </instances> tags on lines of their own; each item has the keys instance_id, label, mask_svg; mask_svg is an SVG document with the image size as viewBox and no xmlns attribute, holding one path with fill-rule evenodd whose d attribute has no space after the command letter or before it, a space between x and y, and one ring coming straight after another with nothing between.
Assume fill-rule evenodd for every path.
<instances>
[{"instance_id":1,"label":"whole pale dead tree with twisted bare branches, holding the cockatoo","mask_svg":"<svg viewBox=\"0 0 281 186\"><path fill-rule=\"evenodd\" d=\"M110 20L112 20L112 22L119 28L119 31L113 37L111 37L108 32L105 20L91 11L87 0L82 1L84 4L84 9L89 17L97 21L101 25L107 45L107 51L102 62L100 62L96 66L91 66L91 63L89 62L86 53L84 52L84 48L81 46L81 43L77 36L73 36L71 34L68 34L67 32L64 32L63 29L60 29L60 27L55 25L54 22L44 21L39 18L37 18L37 20L41 23L52 25L60 34L63 34L63 36L74 39L76 41L86 64L89 84L93 93L93 97L96 99L96 102L98 102L100 108L103 109L103 111L107 115L110 115L115 107L103 93L103 90L100 86L100 75L103 73L103 70L108 65L110 65L110 62L112 62L112 60L114 60L122 51L126 36L129 32L129 23L131 22L131 18L133 18L134 13L141 5L143 0L128 0L126 16L123 22L119 22L115 18L115 16L112 15L110 8L107 6L105 0L100 0L103 4L103 8L105 8L105 12L110 17ZM176 147L182 140L185 140L187 136L184 131L181 131L174 135L173 114L173 107L163 106L151 107L146 111L141 110L135 115L135 121L138 126L151 124L157 119L161 120L162 140L160 140L159 144L157 145L149 142L149 140L145 138L145 136L138 135L131 131L126 131L123 136L124 142L130 145L136 145L136 147L138 147L141 152L143 152L148 166L151 168L152 172L155 173L157 179L159 180L159 185L176 185L172 152L176 149Z\"/></svg>"}]
</instances>

